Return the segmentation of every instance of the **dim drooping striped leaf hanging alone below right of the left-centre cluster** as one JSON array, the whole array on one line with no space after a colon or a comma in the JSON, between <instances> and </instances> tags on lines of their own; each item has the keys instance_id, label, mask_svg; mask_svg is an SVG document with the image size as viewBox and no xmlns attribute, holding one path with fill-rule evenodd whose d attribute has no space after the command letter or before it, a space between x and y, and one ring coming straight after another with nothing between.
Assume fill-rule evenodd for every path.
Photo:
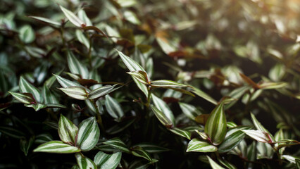
<instances>
[{"instance_id":1,"label":"dim drooping striped leaf hanging alone below right of the left-centre cluster","mask_svg":"<svg viewBox=\"0 0 300 169\"><path fill-rule=\"evenodd\" d=\"M115 118L117 121L120 121L120 118L123 118L124 112L120 104L108 94L105 96L105 106L111 117Z\"/></svg>"}]
</instances>

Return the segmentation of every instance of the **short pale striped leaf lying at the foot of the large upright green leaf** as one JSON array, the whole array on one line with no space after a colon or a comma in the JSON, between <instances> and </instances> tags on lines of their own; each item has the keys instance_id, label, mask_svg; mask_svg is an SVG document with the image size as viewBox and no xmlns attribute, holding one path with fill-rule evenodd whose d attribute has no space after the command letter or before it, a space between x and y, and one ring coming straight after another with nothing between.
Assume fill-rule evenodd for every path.
<instances>
[{"instance_id":1,"label":"short pale striped leaf lying at the foot of the large upright green leaf","mask_svg":"<svg viewBox=\"0 0 300 169\"><path fill-rule=\"evenodd\" d=\"M194 151L194 152L215 152L218 148L216 146L213 146L209 144L208 142L201 141L199 139L192 139L189 141L189 144L187 145L187 152Z\"/></svg>"}]
</instances>

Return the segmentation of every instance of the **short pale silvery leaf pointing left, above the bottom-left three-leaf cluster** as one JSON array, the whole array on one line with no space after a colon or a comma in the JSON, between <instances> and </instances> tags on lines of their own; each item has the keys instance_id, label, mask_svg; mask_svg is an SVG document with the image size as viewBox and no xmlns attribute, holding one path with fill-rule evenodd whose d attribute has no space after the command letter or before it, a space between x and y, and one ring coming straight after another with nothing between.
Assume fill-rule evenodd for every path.
<instances>
[{"instance_id":1,"label":"short pale silvery leaf pointing left, above the bottom-left three-leaf cluster","mask_svg":"<svg viewBox=\"0 0 300 169\"><path fill-rule=\"evenodd\" d=\"M85 100L87 99L87 90L84 87L66 87L66 88L59 88L65 94L74 99L78 100Z\"/></svg>"}]
</instances>

